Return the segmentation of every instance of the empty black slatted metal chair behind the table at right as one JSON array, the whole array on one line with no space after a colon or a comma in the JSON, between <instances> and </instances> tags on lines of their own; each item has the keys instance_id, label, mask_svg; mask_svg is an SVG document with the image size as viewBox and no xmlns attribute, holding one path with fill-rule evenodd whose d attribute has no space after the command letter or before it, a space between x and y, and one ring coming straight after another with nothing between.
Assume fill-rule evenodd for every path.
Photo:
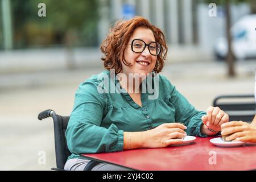
<instances>
[{"instance_id":1,"label":"empty black slatted metal chair behind the table at right","mask_svg":"<svg viewBox=\"0 0 256 182\"><path fill-rule=\"evenodd\" d=\"M224 95L213 101L213 106L220 107L229 114L229 121L251 122L255 116L254 95Z\"/></svg>"}]
</instances>

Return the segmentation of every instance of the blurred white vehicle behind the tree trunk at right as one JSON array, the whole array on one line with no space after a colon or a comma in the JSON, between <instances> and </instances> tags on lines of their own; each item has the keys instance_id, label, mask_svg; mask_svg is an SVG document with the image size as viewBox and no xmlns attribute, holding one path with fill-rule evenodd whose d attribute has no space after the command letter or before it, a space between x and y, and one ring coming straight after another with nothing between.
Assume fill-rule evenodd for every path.
<instances>
[{"instance_id":1,"label":"blurred white vehicle behind the tree trunk at right","mask_svg":"<svg viewBox=\"0 0 256 182\"><path fill-rule=\"evenodd\" d=\"M238 60L256 57L256 14L243 16L230 29L232 50ZM225 59L228 53L226 38L218 38L214 44L214 53L218 59Z\"/></svg>"}]
</instances>

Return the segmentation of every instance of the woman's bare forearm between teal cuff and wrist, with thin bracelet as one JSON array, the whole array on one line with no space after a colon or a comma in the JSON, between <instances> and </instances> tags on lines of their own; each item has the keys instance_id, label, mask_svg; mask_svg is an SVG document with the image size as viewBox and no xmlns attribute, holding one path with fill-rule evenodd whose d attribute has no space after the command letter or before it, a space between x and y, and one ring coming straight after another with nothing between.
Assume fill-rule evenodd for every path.
<instances>
[{"instance_id":1,"label":"woman's bare forearm between teal cuff and wrist, with thin bracelet","mask_svg":"<svg viewBox=\"0 0 256 182\"><path fill-rule=\"evenodd\" d=\"M142 148L144 146L144 132L123 132L123 150Z\"/></svg>"}]
</instances>

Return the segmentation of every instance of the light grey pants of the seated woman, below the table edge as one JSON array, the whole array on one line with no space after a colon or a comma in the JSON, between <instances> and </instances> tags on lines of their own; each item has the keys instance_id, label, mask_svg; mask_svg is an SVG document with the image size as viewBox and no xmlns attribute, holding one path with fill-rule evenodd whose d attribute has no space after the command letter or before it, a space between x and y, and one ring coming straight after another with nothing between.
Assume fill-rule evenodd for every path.
<instances>
[{"instance_id":1,"label":"light grey pants of the seated woman, below the table edge","mask_svg":"<svg viewBox=\"0 0 256 182\"><path fill-rule=\"evenodd\" d=\"M69 159L64 166L65 170L68 171L83 171L86 164L90 162L89 159ZM129 171L130 169L116 166L114 164L99 163L92 168L92 171Z\"/></svg>"}]
</instances>

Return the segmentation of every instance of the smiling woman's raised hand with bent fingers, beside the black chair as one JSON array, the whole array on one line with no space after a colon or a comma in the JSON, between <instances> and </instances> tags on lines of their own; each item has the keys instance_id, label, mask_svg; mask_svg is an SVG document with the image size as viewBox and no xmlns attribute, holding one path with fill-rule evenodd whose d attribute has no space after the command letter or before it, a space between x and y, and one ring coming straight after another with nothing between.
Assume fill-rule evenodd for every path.
<instances>
[{"instance_id":1,"label":"smiling woman's raised hand with bent fingers, beside the black chair","mask_svg":"<svg viewBox=\"0 0 256 182\"><path fill-rule=\"evenodd\" d=\"M218 131L221 131L221 125L229 121L229 115L219 107L211 106L207 109L207 115L202 117L202 121L205 126L217 133ZM207 129L207 127L203 128Z\"/></svg>"}]
</instances>

